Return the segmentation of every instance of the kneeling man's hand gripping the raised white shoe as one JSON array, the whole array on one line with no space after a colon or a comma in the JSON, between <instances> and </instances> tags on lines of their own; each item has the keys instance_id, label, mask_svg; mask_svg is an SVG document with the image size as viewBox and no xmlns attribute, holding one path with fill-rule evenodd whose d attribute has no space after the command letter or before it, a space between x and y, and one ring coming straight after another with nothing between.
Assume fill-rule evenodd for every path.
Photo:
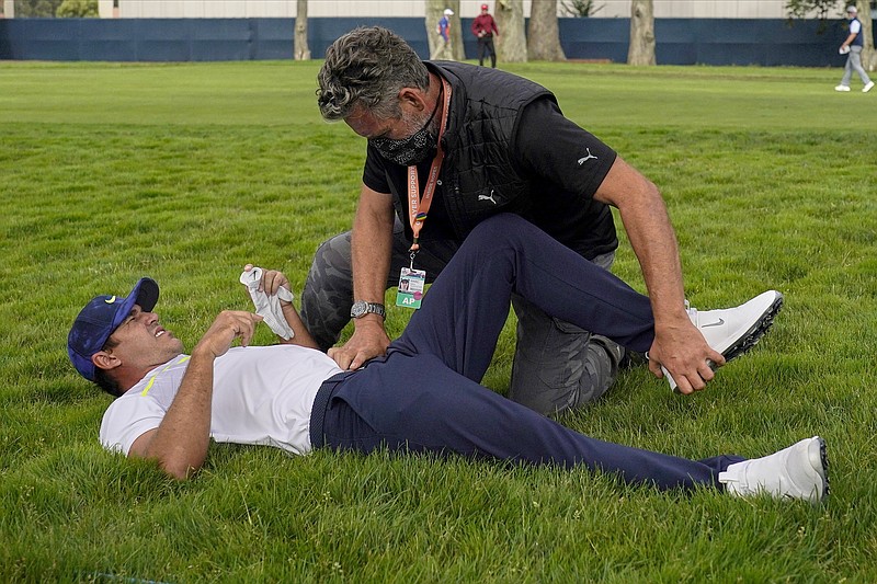
<instances>
[{"instance_id":1,"label":"kneeling man's hand gripping the raised white shoe","mask_svg":"<svg viewBox=\"0 0 877 584\"><path fill-rule=\"evenodd\" d=\"M649 348L649 369L660 378L663 377L663 365L673 376L681 393L701 391L715 377L708 360L716 367L725 365L721 353L707 344L690 320L660 329L656 327L654 341Z\"/></svg>"}]
</instances>

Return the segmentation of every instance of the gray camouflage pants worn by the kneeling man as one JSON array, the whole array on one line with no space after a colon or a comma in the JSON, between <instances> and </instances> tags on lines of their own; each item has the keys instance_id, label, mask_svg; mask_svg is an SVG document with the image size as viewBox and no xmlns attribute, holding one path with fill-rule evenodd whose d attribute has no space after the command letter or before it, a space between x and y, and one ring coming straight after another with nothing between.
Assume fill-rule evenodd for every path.
<instances>
[{"instance_id":1,"label":"gray camouflage pants worn by the kneeling man","mask_svg":"<svg viewBox=\"0 0 877 584\"><path fill-rule=\"evenodd\" d=\"M401 222L394 229L392 260L387 288L397 286L399 271L410 263ZM418 253L415 267L433 282L451 261L458 244L430 241ZM608 270L614 253L594 259ZM323 242L317 250L301 291L301 320L323 351L334 345L350 322L353 306L351 232ZM615 382L624 355L617 344L549 317L514 295L517 345L509 398L542 414L555 414L601 397Z\"/></svg>"}]
</instances>

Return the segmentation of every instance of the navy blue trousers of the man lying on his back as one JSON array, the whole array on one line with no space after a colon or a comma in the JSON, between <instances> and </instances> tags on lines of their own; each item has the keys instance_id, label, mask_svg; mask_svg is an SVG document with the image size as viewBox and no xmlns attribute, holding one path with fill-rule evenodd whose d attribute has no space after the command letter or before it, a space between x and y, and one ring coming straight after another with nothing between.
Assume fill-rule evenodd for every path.
<instances>
[{"instance_id":1,"label":"navy blue trousers of the man lying on his back","mask_svg":"<svg viewBox=\"0 0 877 584\"><path fill-rule=\"evenodd\" d=\"M651 346L648 297L524 219L499 215L466 239L386 357L323 383L315 446L584 465L661 489L718 486L718 473L743 460L694 461L597 440L480 386L513 291L625 347Z\"/></svg>"}]
</instances>

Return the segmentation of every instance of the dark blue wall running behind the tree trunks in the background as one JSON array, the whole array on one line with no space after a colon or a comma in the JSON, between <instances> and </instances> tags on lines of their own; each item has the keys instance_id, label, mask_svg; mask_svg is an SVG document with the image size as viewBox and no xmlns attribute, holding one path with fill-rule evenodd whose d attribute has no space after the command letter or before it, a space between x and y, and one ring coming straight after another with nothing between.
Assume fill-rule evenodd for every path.
<instances>
[{"instance_id":1,"label":"dark blue wall running behind the tree trunks in the background","mask_svg":"<svg viewBox=\"0 0 877 584\"><path fill-rule=\"evenodd\" d=\"M463 19L464 31L470 19ZM425 59L421 18L308 19L311 54L320 58L339 36L358 25L380 24L403 36ZM291 59L294 19L5 19L0 59L185 61ZM818 23L789 27L785 20L657 19L661 65L762 65L840 67L840 21L823 34ZM465 44L469 58L475 41ZM628 19L560 19L569 59L627 60Z\"/></svg>"}]
</instances>

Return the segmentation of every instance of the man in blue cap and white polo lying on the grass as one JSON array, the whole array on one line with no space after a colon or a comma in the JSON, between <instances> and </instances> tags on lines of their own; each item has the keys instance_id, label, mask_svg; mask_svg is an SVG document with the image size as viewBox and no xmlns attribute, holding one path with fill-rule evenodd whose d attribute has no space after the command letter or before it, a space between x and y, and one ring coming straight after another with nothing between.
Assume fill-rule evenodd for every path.
<instances>
[{"instance_id":1,"label":"man in blue cap and white polo lying on the grass","mask_svg":"<svg viewBox=\"0 0 877 584\"><path fill-rule=\"evenodd\" d=\"M299 455L322 447L366 454L388 448L583 465L659 489L705 485L811 502L828 494L818 436L764 458L687 460L590 438L478 385L512 293L634 351L648 351L654 340L648 297L516 216L476 228L387 355L354 371L311 348L282 273L247 266L241 279L248 278L257 306L275 302L269 321L275 329L288 324L289 340L247 346L262 317L224 311L184 355L152 312L159 290L149 278L125 298L99 296L82 309L68 353L83 377L118 397L101 424L106 448L155 459L179 479L201 468L213 438ZM693 314L701 327L709 324L702 330L710 346L725 352L703 364L705 380L726 357L758 341L781 301L779 293L770 291L737 308ZM232 348L235 339L242 346Z\"/></svg>"}]
</instances>

